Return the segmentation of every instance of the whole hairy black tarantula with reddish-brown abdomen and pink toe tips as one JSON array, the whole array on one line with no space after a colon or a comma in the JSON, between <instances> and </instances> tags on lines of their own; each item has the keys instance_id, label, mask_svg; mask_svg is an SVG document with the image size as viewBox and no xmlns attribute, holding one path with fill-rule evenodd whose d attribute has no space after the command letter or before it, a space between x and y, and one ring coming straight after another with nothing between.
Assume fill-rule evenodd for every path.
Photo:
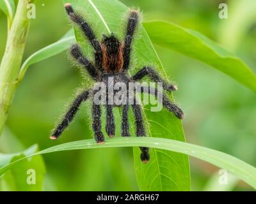
<instances>
[{"instance_id":1,"label":"whole hairy black tarantula with reddish-brown abdomen and pink toe tips","mask_svg":"<svg viewBox=\"0 0 256 204\"><path fill-rule=\"evenodd\" d=\"M143 77L148 76L154 82L162 82L163 89L166 91L176 91L176 85L169 85L164 80L159 77L158 73L149 66L145 66L134 76L129 76L127 73L130 64L131 57L131 49L132 49L132 38L134 38L134 32L136 31L136 27L139 22L139 13L136 10L131 10L129 12L129 18L126 27L126 34L124 42L119 41L115 35L112 33L110 36L103 35L103 39L101 42L96 40L95 34L92 31L92 28L80 15L73 10L70 3L65 4L65 9L67 11L70 20L75 24L79 25L81 31L83 31L84 36L90 41L92 47L95 50L95 62L92 63L82 54L81 48L79 45L73 45L70 48L70 53L76 61L81 64L84 69L87 70L90 77L95 80L95 82L103 82L104 84L108 84L108 78L113 78L113 83L124 82L126 85L129 82L138 82ZM152 90L150 88L150 90ZM141 92L145 91L145 89L140 90ZM157 90L156 90L157 92ZM79 105L86 101L89 98L92 98L95 92L92 89L82 92L77 96L77 98L72 103L70 109L65 114L65 117L61 121L61 123L54 129L51 139L56 140L58 136L67 128L68 124L74 118ZM108 94L108 93L107 93ZM152 94L152 92L148 91L148 94ZM154 94L156 94L154 92ZM174 105L169 99L163 96L163 106L170 112L173 112L175 116L179 119L183 119L184 114L182 110L176 105ZM136 100L135 96L132 96L134 100ZM115 136L115 120L113 116L113 107L117 106L115 103L113 105L106 104L106 133L108 136ZM122 136L130 136L129 134L129 121L128 121L128 108L132 106L132 110L134 113L135 121L136 121L136 136L146 136L145 128L143 125L143 117L141 115L141 106L134 103L132 105L122 104ZM93 102L92 105L92 117L93 123L92 128L94 132L94 138L97 143L104 142L104 135L101 131L101 110L100 105L97 105ZM143 163L147 163L149 161L149 149L148 147L140 147L141 149L141 161Z\"/></svg>"}]
</instances>

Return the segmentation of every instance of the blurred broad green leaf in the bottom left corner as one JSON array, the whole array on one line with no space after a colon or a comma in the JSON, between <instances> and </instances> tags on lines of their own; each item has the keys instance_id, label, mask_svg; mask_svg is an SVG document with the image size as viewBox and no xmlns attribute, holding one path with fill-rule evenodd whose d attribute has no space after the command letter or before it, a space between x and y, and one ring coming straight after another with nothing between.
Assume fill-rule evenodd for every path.
<instances>
[{"instance_id":1,"label":"blurred broad green leaf in the bottom left corner","mask_svg":"<svg viewBox=\"0 0 256 204\"><path fill-rule=\"evenodd\" d=\"M24 152L15 154L0 154L0 166L6 166L22 159L15 168L6 171L0 178L1 191L42 191L44 182L45 166L42 156L28 157L38 152L37 145L33 145ZM32 173L35 173L33 177ZM35 179L35 180L33 180ZM31 183L34 182L35 184Z\"/></svg>"}]
</instances>

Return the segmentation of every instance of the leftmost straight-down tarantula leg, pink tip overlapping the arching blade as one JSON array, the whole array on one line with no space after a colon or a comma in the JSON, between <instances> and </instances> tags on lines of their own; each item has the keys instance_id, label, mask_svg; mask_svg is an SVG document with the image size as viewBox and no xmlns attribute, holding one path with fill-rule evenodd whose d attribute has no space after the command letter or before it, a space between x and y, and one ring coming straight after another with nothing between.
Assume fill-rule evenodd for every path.
<instances>
[{"instance_id":1,"label":"leftmost straight-down tarantula leg, pink tip overlapping the arching blade","mask_svg":"<svg viewBox=\"0 0 256 204\"><path fill-rule=\"evenodd\" d=\"M94 132L94 138L97 143L103 143L105 141L105 138L101 131L101 108L100 105L96 105L94 102L92 103L92 117L92 129Z\"/></svg>"}]
</instances>

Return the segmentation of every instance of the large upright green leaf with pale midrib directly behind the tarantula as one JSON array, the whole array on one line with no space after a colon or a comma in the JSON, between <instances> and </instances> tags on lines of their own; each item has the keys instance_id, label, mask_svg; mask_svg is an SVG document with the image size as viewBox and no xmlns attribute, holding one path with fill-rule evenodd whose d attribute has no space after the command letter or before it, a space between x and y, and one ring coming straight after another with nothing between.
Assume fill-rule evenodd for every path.
<instances>
[{"instance_id":1,"label":"large upright green leaf with pale midrib directly behind the tarantula","mask_svg":"<svg viewBox=\"0 0 256 204\"><path fill-rule=\"evenodd\" d=\"M80 11L81 15L84 15L99 40L103 33L110 34L112 32L118 38L124 39L126 17L129 11L124 4L116 0L67 0L63 2L71 3L77 11ZM85 40L77 27L75 33L84 53L92 55L90 43ZM134 61L132 63L133 66L129 70L131 74L146 65L156 66L160 72L164 73L159 57L141 25L138 28L138 36L134 40L133 56L136 63ZM148 136L159 136L159 133L163 133L161 136L164 138L184 141L182 124L172 113L165 110L150 112L149 108L145 108L144 115L147 121ZM120 124L120 114L115 114L115 117L116 124ZM150 163L143 164L140 161L140 150L134 148L134 165L138 184L143 191L189 191L190 189L189 161L188 156L184 154L150 149Z\"/></svg>"}]
</instances>

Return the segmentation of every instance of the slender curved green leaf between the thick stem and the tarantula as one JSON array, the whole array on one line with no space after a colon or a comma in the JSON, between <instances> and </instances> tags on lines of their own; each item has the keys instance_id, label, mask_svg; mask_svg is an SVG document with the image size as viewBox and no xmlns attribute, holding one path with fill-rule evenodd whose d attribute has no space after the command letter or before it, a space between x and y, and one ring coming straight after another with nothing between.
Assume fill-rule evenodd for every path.
<instances>
[{"instance_id":1,"label":"slender curved green leaf between the thick stem and the tarantula","mask_svg":"<svg viewBox=\"0 0 256 204\"><path fill-rule=\"evenodd\" d=\"M36 62L42 61L56 54L60 54L61 52L66 50L70 43L72 43L72 41L74 40L74 31L70 30L68 31L68 33L65 34L65 36L63 36L63 38L61 38L61 40L56 41L55 43L52 43L51 45L48 45L47 47L42 48L41 50L38 50L37 52L32 54L22 64L20 68L19 80L22 80L31 64L35 64Z\"/></svg>"}]
</instances>

